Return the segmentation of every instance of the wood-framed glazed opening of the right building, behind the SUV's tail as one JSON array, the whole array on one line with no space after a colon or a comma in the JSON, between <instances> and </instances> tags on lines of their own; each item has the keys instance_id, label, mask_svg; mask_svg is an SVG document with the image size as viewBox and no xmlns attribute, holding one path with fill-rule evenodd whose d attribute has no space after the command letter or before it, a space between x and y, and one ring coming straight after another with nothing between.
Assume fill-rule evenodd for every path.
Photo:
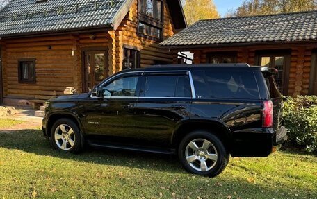
<instances>
[{"instance_id":1,"label":"wood-framed glazed opening of the right building, behind the SUV's tail","mask_svg":"<svg viewBox=\"0 0 317 199\"><path fill-rule=\"evenodd\" d=\"M272 67L278 70L274 76L275 82L282 94L288 94L289 55L283 53L259 53L258 65Z\"/></svg>"}]
</instances>

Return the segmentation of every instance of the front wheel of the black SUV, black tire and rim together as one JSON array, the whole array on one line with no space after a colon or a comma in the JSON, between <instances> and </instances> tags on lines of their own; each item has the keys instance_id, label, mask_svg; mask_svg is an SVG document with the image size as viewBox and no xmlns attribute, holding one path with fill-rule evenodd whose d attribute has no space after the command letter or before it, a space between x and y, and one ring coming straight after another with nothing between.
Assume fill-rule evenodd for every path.
<instances>
[{"instance_id":1,"label":"front wheel of the black SUV, black tire and rim together","mask_svg":"<svg viewBox=\"0 0 317 199\"><path fill-rule=\"evenodd\" d=\"M58 144L63 145L63 139L58 139L58 141L56 141L56 130L58 135L60 133L63 135L60 126L65 126L65 132L67 132L67 130L68 132L70 132L70 128L74 132L72 133L72 135L67 136L68 142L66 141L67 144L65 145L65 149L62 149L63 147L61 148L61 146L58 146ZM51 145L54 146L56 150L75 154L79 153L82 150L81 131L79 130L79 126L77 126L77 124L74 123L74 121L72 121L71 119L58 119L58 121L56 121L51 128L51 137L49 137L49 139L51 141ZM70 149L66 150L67 148Z\"/></svg>"}]
</instances>

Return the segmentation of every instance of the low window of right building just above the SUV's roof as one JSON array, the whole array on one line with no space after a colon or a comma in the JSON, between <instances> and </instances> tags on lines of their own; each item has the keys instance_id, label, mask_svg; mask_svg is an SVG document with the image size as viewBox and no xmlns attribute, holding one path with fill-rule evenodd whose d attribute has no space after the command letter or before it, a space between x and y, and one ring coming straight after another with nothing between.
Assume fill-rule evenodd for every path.
<instances>
[{"instance_id":1,"label":"low window of right building just above the SUV's roof","mask_svg":"<svg viewBox=\"0 0 317 199\"><path fill-rule=\"evenodd\" d=\"M207 54L208 64L231 64L236 63L236 53L209 53Z\"/></svg>"}]
</instances>

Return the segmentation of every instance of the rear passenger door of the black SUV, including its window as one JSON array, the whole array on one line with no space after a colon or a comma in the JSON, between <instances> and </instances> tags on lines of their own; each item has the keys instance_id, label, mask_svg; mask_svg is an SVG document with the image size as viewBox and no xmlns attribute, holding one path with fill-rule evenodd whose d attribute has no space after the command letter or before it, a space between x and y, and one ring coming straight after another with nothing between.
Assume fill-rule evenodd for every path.
<instances>
[{"instance_id":1,"label":"rear passenger door of the black SUV, including its window","mask_svg":"<svg viewBox=\"0 0 317 199\"><path fill-rule=\"evenodd\" d=\"M188 71L143 74L136 107L136 138L150 146L169 147L177 123L189 119L193 97Z\"/></svg>"}]
</instances>

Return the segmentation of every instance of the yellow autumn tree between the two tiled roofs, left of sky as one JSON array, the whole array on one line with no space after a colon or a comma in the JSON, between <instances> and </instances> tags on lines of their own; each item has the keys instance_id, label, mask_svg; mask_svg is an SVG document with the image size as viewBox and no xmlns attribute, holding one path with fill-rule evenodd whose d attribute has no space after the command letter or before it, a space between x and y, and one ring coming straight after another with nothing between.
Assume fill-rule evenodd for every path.
<instances>
[{"instance_id":1,"label":"yellow autumn tree between the two tiled roofs, left of sky","mask_svg":"<svg viewBox=\"0 0 317 199\"><path fill-rule=\"evenodd\" d=\"M200 19L215 19L220 15L213 0L185 0L182 1L188 25Z\"/></svg>"}]
</instances>

